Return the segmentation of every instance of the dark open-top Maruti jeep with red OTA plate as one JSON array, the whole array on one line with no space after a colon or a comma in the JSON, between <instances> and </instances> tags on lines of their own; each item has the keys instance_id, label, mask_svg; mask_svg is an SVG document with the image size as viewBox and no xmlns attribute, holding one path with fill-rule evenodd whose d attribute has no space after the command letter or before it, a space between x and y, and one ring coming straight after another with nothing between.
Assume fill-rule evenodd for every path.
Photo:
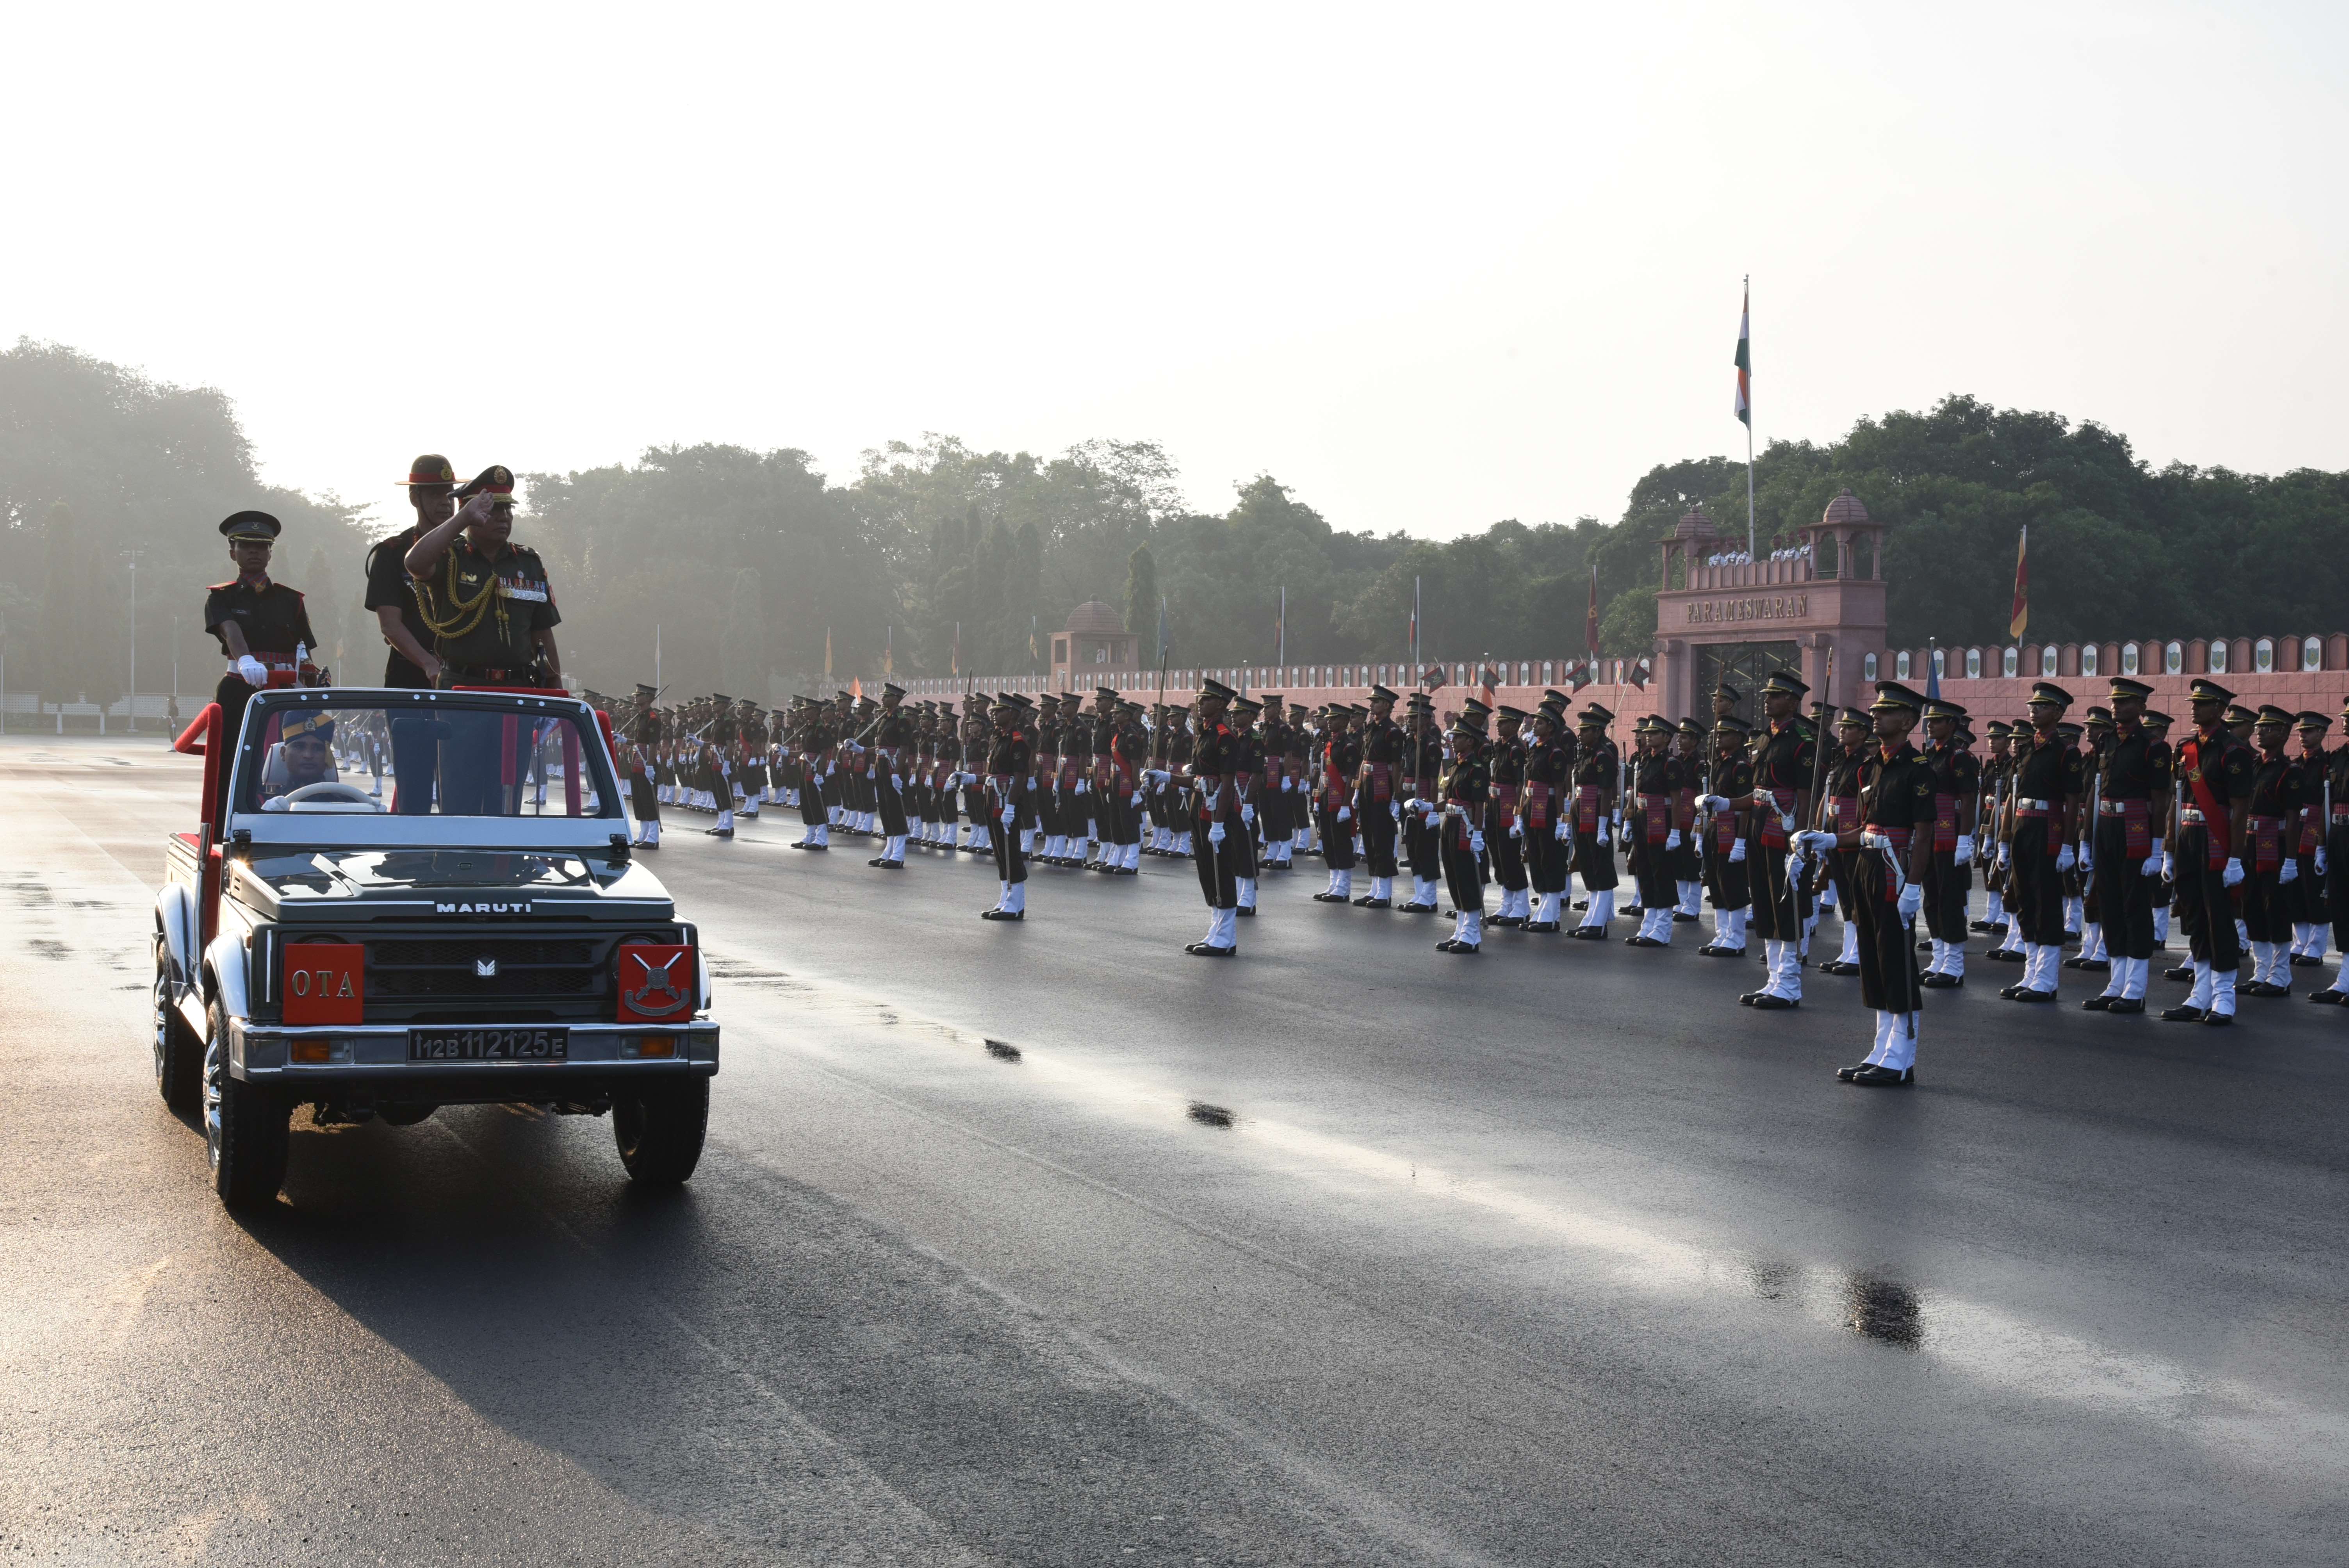
<instances>
[{"instance_id":1,"label":"dark open-top Maruti jeep with red OTA plate","mask_svg":"<svg viewBox=\"0 0 2349 1568\"><path fill-rule=\"evenodd\" d=\"M561 692L261 690L179 737L204 810L155 899L155 1082L202 1108L228 1204L272 1202L289 1117L611 1113L639 1183L693 1174L709 967L630 859L608 721ZM395 777L355 758L392 758Z\"/></svg>"}]
</instances>

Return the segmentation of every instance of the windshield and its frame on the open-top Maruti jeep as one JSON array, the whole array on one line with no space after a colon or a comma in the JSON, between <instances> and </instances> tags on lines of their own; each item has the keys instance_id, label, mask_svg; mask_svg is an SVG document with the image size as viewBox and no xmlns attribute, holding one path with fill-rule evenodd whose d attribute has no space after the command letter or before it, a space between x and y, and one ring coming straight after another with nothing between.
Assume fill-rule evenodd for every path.
<instances>
[{"instance_id":1,"label":"windshield and its frame on the open-top Maruti jeep","mask_svg":"<svg viewBox=\"0 0 2349 1568\"><path fill-rule=\"evenodd\" d=\"M289 807L282 779L263 786L263 768L280 742L284 721L338 714L383 714L385 730L395 723L423 723L432 735L432 746L453 744L449 737L465 737L474 728L500 735L500 744L512 744L514 735L531 735L521 751L512 753L505 772L510 782L491 779L493 791L503 791L512 810L484 815L392 812L388 805L359 803L364 789L350 789L350 800L331 798L312 810ZM467 725L467 721L472 721ZM529 725L529 730L521 730ZM576 761L578 775L568 768L552 784L540 772L531 777L531 758L547 756L564 763ZM390 761L390 758L388 758ZM479 756L472 758L477 765ZM489 768L498 758L491 753ZM338 779L350 784L350 779ZM364 784L364 775L359 779ZM524 800L531 793L550 791L550 805L564 810L536 815ZM397 772L385 775L385 791L397 789ZM571 793L576 791L576 793ZM568 796L568 798L566 798ZM385 800L392 796L388 793ZM228 838L256 845L310 845L355 850L406 850L406 847L484 847L484 850L611 850L627 843L627 810L620 803L618 772L597 711L578 697L540 692L428 692L395 688L280 688L258 690L244 709L244 730L230 758L228 791ZM303 803L308 805L308 803ZM270 807L270 810L263 810ZM324 807L324 810L319 810ZM334 810L341 807L341 810Z\"/></svg>"}]
</instances>

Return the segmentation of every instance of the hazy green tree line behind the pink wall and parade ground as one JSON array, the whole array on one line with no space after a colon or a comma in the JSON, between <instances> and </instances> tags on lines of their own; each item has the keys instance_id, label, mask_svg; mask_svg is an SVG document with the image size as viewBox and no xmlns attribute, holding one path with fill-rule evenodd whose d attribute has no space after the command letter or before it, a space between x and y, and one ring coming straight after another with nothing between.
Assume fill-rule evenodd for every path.
<instances>
[{"instance_id":1,"label":"hazy green tree line behind the pink wall and parade ground","mask_svg":"<svg viewBox=\"0 0 2349 1568\"><path fill-rule=\"evenodd\" d=\"M402 462L397 453L390 462ZM1757 460L1762 547L1851 488L1886 523L1903 643L2004 636L2015 533L2032 530L2032 636L2330 631L2349 570L2349 474L2281 477L2138 460L2100 425L1947 397L1860 420L1837 441ZM1151 441L1066 453L890 441L834 484L803 451L665 446L634 462L526 474L517 535L550 561L566 664L625 688L768 697L834 674L1041 669L1071 608L1125 615L1144 660L1160 615L1179 664L1400 660L1412 592L1421 648L1574 657L1593 573L1609 655L1654 636L1656 540L1703 505L1743 540L1745 469L1649 469L1611 523L1503 519L1431 540L1337 528L1271 474L1193 509ZM357 608L352 507L263 486L221 392L153 383L56 345L0 354L0 613L7 683L110 697L127 678L127 556L141 556L141 685L157 690L179 622L214 676L202 584L226 575L214 523L287 521L277 570L310 594L327 653L355 678L383 657ZM404 521L397 502L383 507ZM1449 519L1445 519L1449 521ZM160 660L148 664L146 660Z\"/></svg>"}]
</instances>

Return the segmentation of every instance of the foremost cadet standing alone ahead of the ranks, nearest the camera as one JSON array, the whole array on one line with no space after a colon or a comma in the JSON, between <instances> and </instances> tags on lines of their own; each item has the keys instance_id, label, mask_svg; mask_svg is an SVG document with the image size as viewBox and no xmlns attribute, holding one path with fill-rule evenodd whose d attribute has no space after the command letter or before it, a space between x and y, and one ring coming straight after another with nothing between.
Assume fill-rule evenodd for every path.
<instances>
[{"instance_id":1,"label":"foremost cadet standing alone ahead of the ranks, nearest the camera","mask_svg":"<svg viewBox=\"0 0 2349 1568\"><path fill-rule=\"evenodd\" d=\"M1924 986L1912 922L1924 908L1938 793L1933 768L1907 739L1921 709L1924 697L1898 681L1877 683L1877 699L1867 709L1875 714L1877 744L1860 770L1860 826L1849 833L1804 833L1813 852L1858 852L1844 915L1860 932L1860 1005L1875 1012L1877 1030L1867 1059L1837 1068L1835 1075L1863 1089L1917 1082Z\"/></svg>"}]
</instances>

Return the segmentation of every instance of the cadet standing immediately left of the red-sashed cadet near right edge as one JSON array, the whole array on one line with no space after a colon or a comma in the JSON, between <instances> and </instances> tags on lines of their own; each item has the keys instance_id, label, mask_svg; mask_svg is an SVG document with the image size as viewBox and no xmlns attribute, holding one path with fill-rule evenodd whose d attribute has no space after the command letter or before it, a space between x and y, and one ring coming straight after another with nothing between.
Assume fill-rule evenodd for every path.
<instances>
[{"instance_id":1,"label":"cadet standing immediately left of the red-sashed cadet near right edge","mask_svg":"<svg viewBox=\"0 0 2349 1568\"><path fill-rule=\"evenodd\" d=\"M2170 749L2145 728L2154 688L2116 676L2112 683L2112 742L2095 779L2091 864L2098 932L2112 962L2088 1012L2145 1012L2154 967L2154 885L2161 880L2159 815L2170 798ZM2084 927L2086 930L2086 927Z\"/></svg>"}]
</instances>

